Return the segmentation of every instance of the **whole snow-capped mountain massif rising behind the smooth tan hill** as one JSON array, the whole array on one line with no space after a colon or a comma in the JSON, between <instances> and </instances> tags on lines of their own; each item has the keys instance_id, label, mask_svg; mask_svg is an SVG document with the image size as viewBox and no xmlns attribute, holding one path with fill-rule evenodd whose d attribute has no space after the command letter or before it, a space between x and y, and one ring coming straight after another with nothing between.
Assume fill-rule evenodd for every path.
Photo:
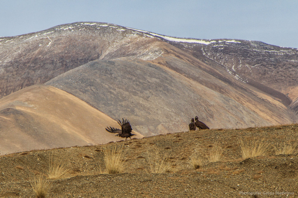
<instances>
[{"instance_id":1,"label":"whole snow-capped mountain massif rising behind the smooth tan hill","mask_svg":"<svg viewBox=\"0 0 298 198\"><path fill-rule=\"evenodd\" d=\"M1 37L0 52L0 97L49 85L144 136L187 131L196 115L210 128L298 120L293 48L77 22Z\"/></svg>"}]
</instances>

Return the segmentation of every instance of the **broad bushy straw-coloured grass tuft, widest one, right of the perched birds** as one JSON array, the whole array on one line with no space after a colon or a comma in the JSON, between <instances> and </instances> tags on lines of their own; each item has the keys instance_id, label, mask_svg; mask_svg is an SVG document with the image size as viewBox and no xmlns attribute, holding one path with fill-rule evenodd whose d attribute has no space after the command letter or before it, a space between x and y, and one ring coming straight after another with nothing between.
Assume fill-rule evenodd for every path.
<instances>
[{"instance_id":1,"label":"broad bushy straw-coloured grass tuft, widest one, right of the perched birds","mask_svg":"<svg viewBox=\"0 0 298 198\"><path fill-rule=\"evenodd\" d=\"M256 157L256 156L266 156L270 154L269 143L266 143L264 139L262 140L246 140L243 142L239 140L239 145L241 148L241 154L243 159Z\"/></svg>"}]
</instances>

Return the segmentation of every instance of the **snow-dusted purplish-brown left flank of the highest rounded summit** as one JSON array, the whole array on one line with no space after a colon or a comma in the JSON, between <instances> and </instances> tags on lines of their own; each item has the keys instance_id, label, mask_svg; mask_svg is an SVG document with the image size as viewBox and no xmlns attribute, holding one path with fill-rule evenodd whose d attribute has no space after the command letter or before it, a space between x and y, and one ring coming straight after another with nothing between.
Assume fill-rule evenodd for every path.
<instances>
[{"instance_id":1,"label":"snow-dusted purplish-brown left flank of the highest rounded summit","mask_svg":"<svg viewBox=\"0 0 298 198\"><path fill-rule=\"evenodd\" d=\"M113 28L111 28L113 27ZM124 30L124 29L123 29ZM127 45L118 53L142 56L140 35L106 23L73 23L44 31L0 39L0 98L98 58ZM148 37L147 37L148 38ZM135 40L139 52L128 48ZM147 50L147 49L146 49ZM13 76L13 77L12 77Z\"/></svg>"}]
</instances>

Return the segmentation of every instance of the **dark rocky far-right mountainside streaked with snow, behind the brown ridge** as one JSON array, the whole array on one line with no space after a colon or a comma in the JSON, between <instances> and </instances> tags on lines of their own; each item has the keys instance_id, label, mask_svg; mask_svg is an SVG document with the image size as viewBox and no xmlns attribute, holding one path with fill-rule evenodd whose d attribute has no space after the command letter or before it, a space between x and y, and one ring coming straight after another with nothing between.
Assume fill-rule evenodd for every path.
<instances>
[{"instance_id":1,"label":"dark rocky far-right mountainside streaked with snow, behind the brown ridge","mask_svg":"<svg viewBox=\"0 0 298 198\"><path fill-rule=\"evenodd\" d=\"M207 64L222 67L235 78L290 105L298 86L298 50L259 41L214 39L206 43L167 40ZM297 96L297 92L295 93Z\"/></svg>"}]
</instances>

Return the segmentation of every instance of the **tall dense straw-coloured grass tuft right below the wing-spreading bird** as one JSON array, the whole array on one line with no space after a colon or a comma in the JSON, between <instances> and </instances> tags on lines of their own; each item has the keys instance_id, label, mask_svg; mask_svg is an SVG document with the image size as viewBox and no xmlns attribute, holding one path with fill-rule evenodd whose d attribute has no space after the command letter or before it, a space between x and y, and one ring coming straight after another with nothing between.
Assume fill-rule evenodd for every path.
<instances>
[{"instance_id":1,"label":"tall dense straw-coloured grass tuft right below the wing-spreading bird","mask_svg":"<svg viewBox=\"0 0 298 198\"><path fill-rule=\"evenodd\" d=\"M125 170L125 161L124 161L124 155L121 150L123 148L123 145L121 148L117 149L117 146L106 146L103 147L103 153L104 153L104 161L105 161L105 169L106 173L108 174L117 174L122 173Z\"/></svg>"}]
</instances>

